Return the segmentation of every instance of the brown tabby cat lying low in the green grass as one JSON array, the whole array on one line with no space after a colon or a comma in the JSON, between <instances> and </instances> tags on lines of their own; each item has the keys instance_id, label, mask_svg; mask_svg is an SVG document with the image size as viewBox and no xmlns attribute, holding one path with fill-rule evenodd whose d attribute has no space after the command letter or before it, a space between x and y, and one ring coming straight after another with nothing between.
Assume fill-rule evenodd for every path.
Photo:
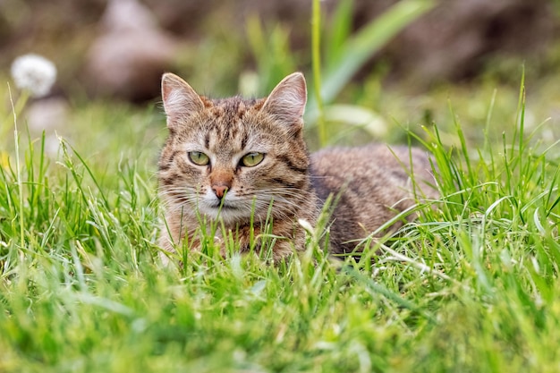
<instances>
[{"instance_id":1,"label":"brown tabby cat lying low in the green grass","mask_svg":"<svg viewBox=\"0 0 560 373\"><path fill-rule=\"evenodd\" d=\"M305 249L301 221L315 225L330 195L336 202L329 251L350 253L395 211L412 207L415 192L435 195L425 188L434 178L419 148L371 144L310 156L303 139L307 88L301 72L259 99L199 96L168 72L162 99L169 132L158 162L165 214L159 246L165 263L165 252L175 253L183 240L198 250L201 230L209 232L216 222L216 242L231 232L242 251L259 251L261 233L272 221L273 258L283 259ZM398 225L402 222L392 229Z\"/></svg>"}]
</instances>

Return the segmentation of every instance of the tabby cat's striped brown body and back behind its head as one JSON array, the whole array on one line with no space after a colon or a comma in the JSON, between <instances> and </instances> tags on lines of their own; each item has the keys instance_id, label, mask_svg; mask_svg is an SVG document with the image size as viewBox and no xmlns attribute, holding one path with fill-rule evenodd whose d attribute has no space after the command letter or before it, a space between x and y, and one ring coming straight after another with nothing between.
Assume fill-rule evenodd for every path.
<instances>
[{"instance_id":1,"label":"tabby cat's striped brown body and back behind its head","mask_svg":"<svg viewBox=\"0 0 560 373\"><path fill-rule=\"evenodd\" d=\"M312 154L310 177L318 198L325 201L331 193L338 196L331 249L336 253L352 251L357 238L384 225L395 216L395 210L412 207L415 195L436 198L431 169L427 153L419 148L369 144Z\"/></svg>"}]
</instances>

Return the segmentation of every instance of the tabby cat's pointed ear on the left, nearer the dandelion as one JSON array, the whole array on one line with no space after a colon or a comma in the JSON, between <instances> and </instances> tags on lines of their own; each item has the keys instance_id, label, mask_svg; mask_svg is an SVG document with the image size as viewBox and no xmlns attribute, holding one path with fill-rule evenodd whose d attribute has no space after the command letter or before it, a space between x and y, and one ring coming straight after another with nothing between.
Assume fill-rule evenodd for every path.
<instances>
[{"instance_id":1,"label":"tabby cat's pointed ear on the left, nearer the dandelion","mask_svg":"<svg viewBox=\"0 0 560 373\"><path fill-rule=\"evenodd\" d=\"M185 117L204 109L197 92L177 75L167 72L161 78L161 97L167 114L167 127L174 127Z\"/></svg>"}]
</instances>

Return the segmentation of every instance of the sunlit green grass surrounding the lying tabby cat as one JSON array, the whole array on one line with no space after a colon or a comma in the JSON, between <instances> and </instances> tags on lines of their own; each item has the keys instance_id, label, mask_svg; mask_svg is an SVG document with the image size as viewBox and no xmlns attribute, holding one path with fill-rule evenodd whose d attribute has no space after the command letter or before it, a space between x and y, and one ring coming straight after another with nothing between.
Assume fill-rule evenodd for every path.
<instances>
[{"instance_id":1,"label":"sunlit green grass surrounding the lying tabby cat","mask_svg":"<svg viewBox=\"0 0 560 373\"><path fill-rule=\"evenodd\" d=\"M55 157L18 123L0 168L0 371L557 371L560 152L547 123L524 133L523 89L498 118L493 97L479 146L453 105L409 132L442 199L342 264L310 237L276 267L210 240L163 268L161 114L78 107Z\"/></svg>"}]
</instances>

